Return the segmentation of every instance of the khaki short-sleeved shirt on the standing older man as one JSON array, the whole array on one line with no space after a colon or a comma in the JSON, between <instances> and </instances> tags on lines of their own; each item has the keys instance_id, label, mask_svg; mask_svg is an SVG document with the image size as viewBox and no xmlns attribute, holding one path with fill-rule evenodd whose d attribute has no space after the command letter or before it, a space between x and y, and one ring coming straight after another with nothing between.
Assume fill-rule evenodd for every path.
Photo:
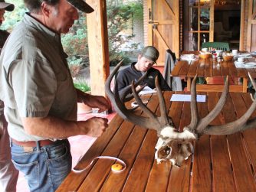
<instances>
[{"instance_id":1,"label":"khaki short-sleeved shirt on the standing older man","mask_svg":"<svg viewBox=\"0 0 256 192\"><path fill-rule=\"evenodd\" d=\"M77 120L77 95L59 34L26 14L10 34L0 57L0 99L11 138L35 141L21 117Z\"/></svg>"}]
</instances>

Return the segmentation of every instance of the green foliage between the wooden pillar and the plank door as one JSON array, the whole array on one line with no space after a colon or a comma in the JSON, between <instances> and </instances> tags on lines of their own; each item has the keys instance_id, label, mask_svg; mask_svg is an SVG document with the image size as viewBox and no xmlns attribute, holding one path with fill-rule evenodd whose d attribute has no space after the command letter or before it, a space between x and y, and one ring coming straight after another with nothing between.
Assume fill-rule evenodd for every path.
<instances>
[{"instance_id":1,"label":"green foliage between the wooden pillar and the plank door","mask_svg":"<svg viewBox=\"0 0 256 192\"><path fill-rule=\"evenodd\" d=\"M143 19L142 1L123 4L117 0L107 0L110 65L115 65L116 60L123 58L125 59L123 63L129 63L129 57L123 50L132 54L134 50L138 49L139 44L130 44L135 35L125 33L126 30L133 27L131 23L134 16L136 19Z\"/></svg>"}]
</instances>

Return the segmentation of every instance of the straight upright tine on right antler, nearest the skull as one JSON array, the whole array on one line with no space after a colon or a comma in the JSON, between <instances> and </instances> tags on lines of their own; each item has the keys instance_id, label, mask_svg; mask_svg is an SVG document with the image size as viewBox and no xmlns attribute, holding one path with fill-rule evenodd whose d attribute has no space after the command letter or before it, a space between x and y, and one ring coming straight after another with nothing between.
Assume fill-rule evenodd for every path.
<instances>
[{"instance_id":1,"label":"straight upright tine on right antler, nearest the skull","mask_svg":"<svg viewBox=\"0 0 256 192\"><path fill-rule=\"evenodd\" d=\"M190 103L190 110L191 110L191 122L187 126L192 132L194 132L195 127L199 121L199 112L196 106L196 82L197 74L195 74L194 79L191 83L191 103Z\"/></svg>"}]
</instances>

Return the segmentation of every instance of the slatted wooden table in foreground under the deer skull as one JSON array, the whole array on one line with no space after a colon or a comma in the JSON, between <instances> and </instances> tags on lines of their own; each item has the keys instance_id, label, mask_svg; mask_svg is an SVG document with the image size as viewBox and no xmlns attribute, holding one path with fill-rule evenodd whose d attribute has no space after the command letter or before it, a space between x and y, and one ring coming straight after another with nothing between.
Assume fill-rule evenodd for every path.
<instances>
[{"instance_id":1,"label":"slatted wooden table in foreground under the deer skull","mask_svg":"<svg viewBox=\"0 0 256 192\"><path fill-rule=\"evenodd\" d=\"M183 92L179 92L183 93ZM190 122L190 103L170 102L173 92L165 92L169 116L182 129ZM205 116L217 103L220 93L207 94L198 103L199 116ZM248 93L230 93L222 113L211 124L231 122L242 116L251 104ZM159 115L159 100L153 95L149 109ZM139 109L136 110L139 114ZM253 116L256 116L254 112ZM125 171L110 171L114 161L98 160L87 171L71 172L57 191L256 191L256 129L233 135L203 135L194 143L194 155L181 168L170 162L156 164L156 132L134 126L115 116L110 126L87 151L77 168L85 168L99 155L126 162Z\"/></svg>"}]
</instances>

